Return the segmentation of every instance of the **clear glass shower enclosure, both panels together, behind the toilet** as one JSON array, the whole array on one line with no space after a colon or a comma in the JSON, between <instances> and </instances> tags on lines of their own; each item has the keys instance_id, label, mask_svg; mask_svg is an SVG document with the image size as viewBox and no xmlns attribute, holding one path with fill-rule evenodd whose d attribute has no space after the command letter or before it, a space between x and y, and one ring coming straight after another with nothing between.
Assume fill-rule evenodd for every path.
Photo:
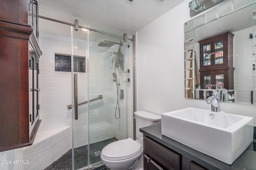
<instances>
[{"instance_id":1,"label":"clear glass shower enclosure, both panels together, behind the toilet","mask_svg":"<svg viewBox=\"0 0 256 170\"><path fill-rule=\"evenodd\" d=\"M71 28L72 166L75 170L102 166L101 150L128 137L124 33L93 24L79 25L98 31Z\"/></svg>"}]
</instances>

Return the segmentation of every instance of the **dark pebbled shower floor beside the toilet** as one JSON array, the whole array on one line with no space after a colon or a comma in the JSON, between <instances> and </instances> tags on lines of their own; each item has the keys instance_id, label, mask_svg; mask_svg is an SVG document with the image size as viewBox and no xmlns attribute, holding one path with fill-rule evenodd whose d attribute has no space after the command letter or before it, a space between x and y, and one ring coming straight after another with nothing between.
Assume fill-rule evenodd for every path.
<instances>
[{"instance_id":1,"label":"dark pebbled shower floor beside the toilet","mask_svg":"<svg viewBox=\"0 0 256 170\"><path fill-rule=\"evenodd\" d=\"M97 143L90 144L90 161L91 164L96 164L101 161L100 154L95 155L94 152L100 151L108 144L117 141L116 138L107 139ZM88 166L88 145L74 149L74 168L79 169ZM58 160L53 162L45 170L72 170L72 149L62 155ZM101 166L95 170L108 170L106 166Z\"/></svg>"}]
</instances>

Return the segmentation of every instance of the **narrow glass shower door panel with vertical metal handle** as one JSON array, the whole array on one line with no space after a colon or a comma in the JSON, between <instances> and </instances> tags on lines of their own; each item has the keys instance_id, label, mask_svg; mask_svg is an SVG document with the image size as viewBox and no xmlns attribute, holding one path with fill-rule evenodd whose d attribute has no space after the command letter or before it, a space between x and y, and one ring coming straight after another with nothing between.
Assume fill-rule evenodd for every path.
<instances>
[{"instance_id":1,"label":"narrow glass shower door panel with vertical metal handle","mask_svg":"<svg viewBox=\"0 0 256 170\"><path fill-rule=\"evenodd\" d=\"M79 23L81 25L82 23ZM87 26L87 25L85 25ZM88 167L88 63L87 30L72 27L72 166L74 170Z\"/></svg>"}]
</instances>

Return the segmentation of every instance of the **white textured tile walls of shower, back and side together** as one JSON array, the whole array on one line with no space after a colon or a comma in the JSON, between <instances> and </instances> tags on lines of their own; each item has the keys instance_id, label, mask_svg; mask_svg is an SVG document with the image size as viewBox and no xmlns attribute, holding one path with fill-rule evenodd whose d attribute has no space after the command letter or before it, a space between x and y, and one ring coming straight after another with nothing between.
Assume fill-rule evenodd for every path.
<instances>
[{"instance_id":1,"label":"white textured tile walls of shower, back and side together","mask_svg":"<svg viewBox=\"0 0 256 170\"><path fill-rule=\"evenodd\" d=\"M40 131L71 126L72 113L71 109L67 109L67 105L71 104L71 73L54 71L54 54L71 54L70 42L71 39L69 37L43 32L40 33L40 47L43 51L43 55L40 58L40 119L42 119ZM78 49L74 49L74 55L86 56L84 49L84 47L86 47L86 41L75 39L74 43L76 43L76 45L78 44ZM109 72L103 71L103 69L106 70L106 67L109 67L109 64L111 64L110 60L103 60L102 57L104 57L104 55L100 51L92 52L94 51L92 49L89 51L90 65L86 66L90 71L89 98L96 98L98 95L103 96L101 100L96 100L90 104L90 143L109 139L114 136L116 136L117 139L125 139L127 121L128 137L133 136L132 41L129 41L128 43L130 43L130 48L128 49L129 57L127 69L130 69L130 72L121 73L122 75L120 74L120 76L117 73L119 78L118 81L122 81L119 89L124 89L124 94L126 94L127 85L128 93L127 96L124 96L124 100L120 100L121 119L116 120L115 123L113 120L114 109L116 106L116 85L112 81L113 71L111 69L108 70ZM81 47L79 47L79 45ZM103 79L100 78L101 74L104 74ZM87 73L78 73L79 102L88 100L86 93L88 88L87 76ZM130 78L130 82L125 82L126 76ZM126 103L128 107L127 109ZM84 104L78 107L78 113L82 114L78 115L78 120L74 121L74 134L76 134L74 137L74 140L76 141L75 147L86 145L88 143L87 106L87 104ZM98 106L100 106L100 108L98 108ZM126 110L128 111L128 120L125 115Z\"/></svg>"}]
</instances>

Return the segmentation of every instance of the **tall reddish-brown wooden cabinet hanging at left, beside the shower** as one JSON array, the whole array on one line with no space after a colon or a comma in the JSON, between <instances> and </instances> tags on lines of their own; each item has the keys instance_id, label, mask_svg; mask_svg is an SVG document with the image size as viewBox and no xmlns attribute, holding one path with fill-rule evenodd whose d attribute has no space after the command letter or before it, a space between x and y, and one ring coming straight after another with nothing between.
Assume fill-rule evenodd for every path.
<instances>
[{"instance_id":1,"label":"tall reddish-brown wooden cabinet hanging at left, beside the shower","mask_svg":"<svg viewBox=\"0 0 256 170\"><path fill-rule=\"evenodd\" d=\"M40 125L37 3L1 0L0 151L32 145Z\"/></svg>"}]
</instances>

